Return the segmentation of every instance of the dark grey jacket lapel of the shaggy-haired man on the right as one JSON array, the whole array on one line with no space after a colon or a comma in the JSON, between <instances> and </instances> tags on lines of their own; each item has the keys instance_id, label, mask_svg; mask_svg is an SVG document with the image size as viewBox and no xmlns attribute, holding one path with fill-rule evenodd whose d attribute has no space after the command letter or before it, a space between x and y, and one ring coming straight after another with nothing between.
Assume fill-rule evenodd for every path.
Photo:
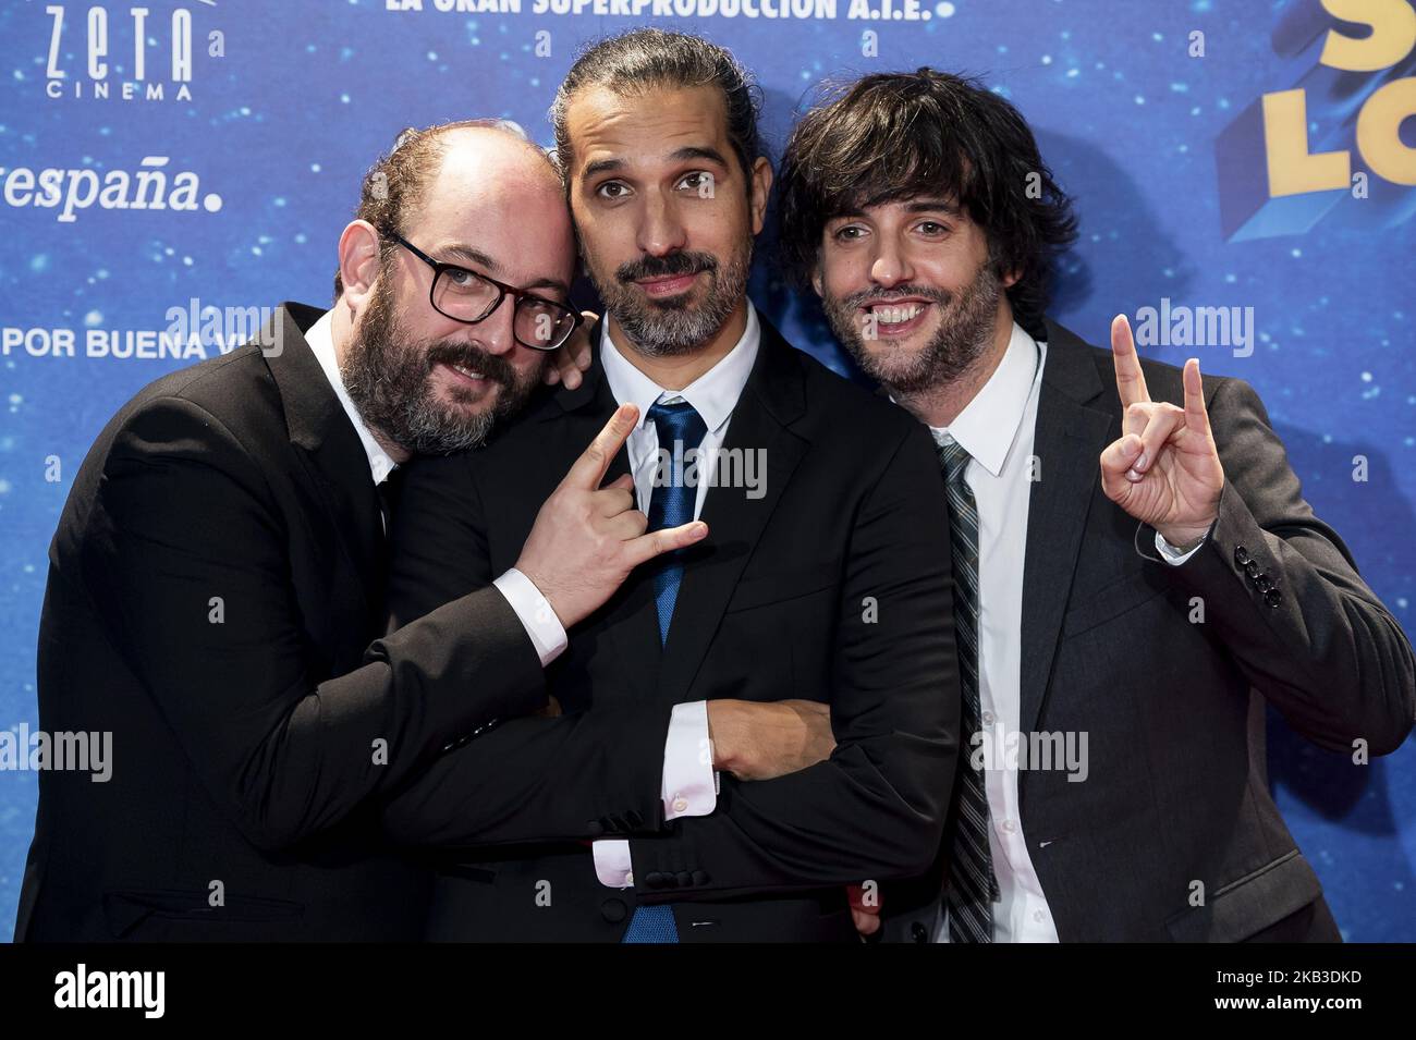
<instances>
[{"instance_id":1,"label":"dark grey jacket lapel of the shaggy-haired man on the right","mask_svg":"<svg viewBox=\"0 0 1416 1040\"><path fill-rule=\"evenodd\" d=\"M1048 321L1048 357L1032 446L1039 480L1028 502L1022 572L1020 729L1024 733L1037 726L1042 710L1096 492L1099 458L1112 424L1110 413L1096 406L1102 389L1086 344Z\"/></svg>"}]
</instances>

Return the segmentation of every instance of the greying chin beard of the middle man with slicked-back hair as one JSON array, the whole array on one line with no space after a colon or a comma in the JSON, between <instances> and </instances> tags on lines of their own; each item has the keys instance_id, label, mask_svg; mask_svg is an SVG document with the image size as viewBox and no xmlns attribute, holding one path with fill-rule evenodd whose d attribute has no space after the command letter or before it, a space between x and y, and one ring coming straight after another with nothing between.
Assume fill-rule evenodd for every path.
<instances>
[{"instance_id":1,"label":"greying chin beard of the middle man with slicked-back hair","mask_svg":"<svg viewBox=\"0 0 1416 1040\"><path fill-rule=\"evenodd\" d=\"M694 310L647 299L641 304L634 293L643 290L624 286L613 275L602 282L593 267L586 267L605 301L605 310L613 316L615 324L634 349L647 358L675 358L692 354L712 340L746 296L748 276L752 272L752 241L726 265L707 272L708 291Z\"/></svg>"}]
</instances>

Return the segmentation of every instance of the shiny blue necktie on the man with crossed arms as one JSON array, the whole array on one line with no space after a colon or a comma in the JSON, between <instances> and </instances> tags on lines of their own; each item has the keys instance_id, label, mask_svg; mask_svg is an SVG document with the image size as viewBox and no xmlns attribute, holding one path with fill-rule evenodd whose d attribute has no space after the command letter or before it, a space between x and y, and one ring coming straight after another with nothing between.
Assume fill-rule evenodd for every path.
<instances>
[{"instance_id":1,"label":"shiny blue necktie on the man with crossed arms","mask_svg":"<svg viewBox=\"0 0 1416 1040\"><path fill-rule=\"evenodd\" d=\"M702 444L708 426L702 416L687 400L673 405L654 405L649 409L658 432L658 458L668 453L668 466L658 467L654 490L649 497L649 529L677 528L694 518L694 502L698 498L697 481L684 484L685 453ZM708 467L698 460L694 467L698 480L707 480ZM667 473L666 473L667 470ZM674 618L674 604L678 601L678 586L684 580L683 549L664 553L654 570L654 610L658 613L658 641L668 642L668 624ZM678 927L674 924L671 906L639 907L629 921L623 942L678 942Z\"/></svg>"}]
</instances>

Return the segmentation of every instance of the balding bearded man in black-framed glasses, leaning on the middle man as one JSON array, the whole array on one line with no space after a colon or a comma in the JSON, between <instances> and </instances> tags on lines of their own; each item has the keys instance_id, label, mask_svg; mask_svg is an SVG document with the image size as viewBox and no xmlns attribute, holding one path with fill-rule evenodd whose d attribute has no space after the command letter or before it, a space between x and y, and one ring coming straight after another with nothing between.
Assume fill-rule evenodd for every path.
<instances>
[{"instance_id":1,"label":"balding bearded man in black-framed glasses, leaning on the middle man","mask_svg":"<svg viewBox=\"0 0 1416 1040\"><path fill-rule=\"evenodd\" d=\"M41 775L17 940L416 937L426 870L378 805L547 706L524 572L575 589L571 625L702 536L643 536L582 478L627 434L616 415L521 570L379 638L391 473L521 406L576 325L572 232L545 156L466 122L401 137L337 255L331 310L286 304L256 342L152 383L79 468L50 549L40 722L110 733L112 775Z\"/></svg>"}]
</instances>

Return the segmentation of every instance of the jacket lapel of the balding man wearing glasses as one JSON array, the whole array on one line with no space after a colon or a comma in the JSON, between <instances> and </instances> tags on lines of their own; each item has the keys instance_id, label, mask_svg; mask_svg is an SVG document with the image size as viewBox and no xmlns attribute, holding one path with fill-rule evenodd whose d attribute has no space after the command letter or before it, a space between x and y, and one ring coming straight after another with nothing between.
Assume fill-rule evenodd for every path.
<instances>
[{"instance_id":1,"label":"jacket lapel of the balding man wearing glasses","mask_svg":"<svg viewBox=\"0 0 1416 1040\"><path fill-rule=\"evenodd\" d=\"M266 365L280 391L290 444L316 488L340 552L358 579L364 610L374 617L379 608L374 590L385 566L378 491L364 444L304 340L304 330L320 314L313 307L283 304L272 318L283 323L282 338L275 340L282 349L266 354Z\"/></svg>"}]
</instances>

